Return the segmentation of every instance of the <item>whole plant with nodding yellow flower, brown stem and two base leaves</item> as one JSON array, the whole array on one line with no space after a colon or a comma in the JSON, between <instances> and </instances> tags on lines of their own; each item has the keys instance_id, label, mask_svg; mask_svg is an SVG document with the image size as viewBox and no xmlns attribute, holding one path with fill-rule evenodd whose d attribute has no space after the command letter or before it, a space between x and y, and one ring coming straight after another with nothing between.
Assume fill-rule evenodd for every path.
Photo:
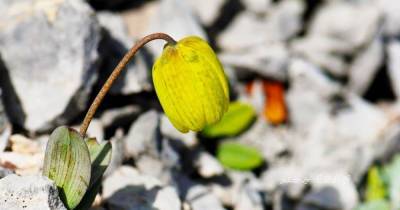
<instances>
[{"instance_id":1,"label":"whole plant with nodding yellow flower, brown stem and two base leaves","mask_svg":"<svg viewBox=\"0 0 400 210\"><path fill-rule=\"evenodd\" d=\"M109 142L99 144L95 138L86 137L97 108L136 52L156 39L163 39L167 44L153 67L154 86L173 125L181 132L199 131L219 121L227 110L228 83L219 60L205 41L190 36L176 42L164 33L145 36L128 51L104 83L79 133L61 126L51 134L43 175L55 182L68 209L91 206L111 160Z\"/></svg>"}]
</instances>

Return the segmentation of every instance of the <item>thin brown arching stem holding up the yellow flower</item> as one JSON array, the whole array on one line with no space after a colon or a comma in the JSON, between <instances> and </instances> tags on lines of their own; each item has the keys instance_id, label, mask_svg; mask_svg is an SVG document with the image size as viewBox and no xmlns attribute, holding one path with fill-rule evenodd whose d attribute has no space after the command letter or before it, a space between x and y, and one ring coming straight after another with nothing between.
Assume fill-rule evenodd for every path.
<instances>
[{"instance_id":1,"label":"thin brown arching stem holding up the yellow flower","mask_svg":"<svg viewBox=\"0 0 400 210\"><path fill-rule=\"evenodd\" d=\"M96 113L97 108L100 106L101 101L103 100L104 96L110 90L112 84L118 78L119 74L122 72L122 70L125 68L125 66L129 63L131 58L136 54L136 52L141 47L143 47L148 42L156 40L156 39L163 39L163 40L167 41L167 43L170 43L170 44L176 43L176 41L172 37L170 37L169 35L164 34L164 33L150 34L150 35L143 37L138 42L136 42L136 44L129 50L129 52L127 52L125 54L125 56L122 58L122 60L118 63L117 67L115 67L115 69L113 70L111 75L108 77L107 81L104 83L103 87L100 89L96 98L90 105L90 108L87 111L85 119L83 119L81 128L79 130L79 133L82 136L85 136L86 131L89 127L90 121L92 120L94 114Z\"/></svg>"}]
</instances>

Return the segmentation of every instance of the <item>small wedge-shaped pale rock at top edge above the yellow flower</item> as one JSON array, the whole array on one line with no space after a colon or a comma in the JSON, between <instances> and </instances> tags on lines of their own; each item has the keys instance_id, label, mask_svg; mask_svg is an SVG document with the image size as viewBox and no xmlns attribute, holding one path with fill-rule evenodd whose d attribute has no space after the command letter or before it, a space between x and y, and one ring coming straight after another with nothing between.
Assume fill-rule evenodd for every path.
<instances>
[{"instance_id":1,"label":"small wedge-shaped pale rock at top edge above the yellow flower","mask_svg":"<svg viewBox=\"0 0 400 210\"><path fill-rule=\"evenodd\" d=\"M201 23L205 26L210 26L216 21L222 12L222 6L224 6L226 2L226 0L188 1L193 12L199 17Z\"/></svg>"}]
</instances>

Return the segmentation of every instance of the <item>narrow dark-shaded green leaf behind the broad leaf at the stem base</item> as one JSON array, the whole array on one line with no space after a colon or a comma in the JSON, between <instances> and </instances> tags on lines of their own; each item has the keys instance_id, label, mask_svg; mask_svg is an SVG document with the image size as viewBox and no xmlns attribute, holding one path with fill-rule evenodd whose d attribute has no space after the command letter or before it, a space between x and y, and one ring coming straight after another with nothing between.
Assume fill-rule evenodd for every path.
<instances>
[{"instance_id":1,"label":"narrow dark-shaded green leaf behind the broad leaf at the stem base","mask_svg":"<svg viewBox=\"0 0 400 210\"><path fill-rule=\"evenodd\" d=\"M76 208L86 210L92 206L94 199L101 187L101 177L111 161L111 143L97 143L95 138L88 138L86 144L89 148L90 160L92 161L92 177L90 178L89 189L81 203Z\"/></svg>"}]
</instances>

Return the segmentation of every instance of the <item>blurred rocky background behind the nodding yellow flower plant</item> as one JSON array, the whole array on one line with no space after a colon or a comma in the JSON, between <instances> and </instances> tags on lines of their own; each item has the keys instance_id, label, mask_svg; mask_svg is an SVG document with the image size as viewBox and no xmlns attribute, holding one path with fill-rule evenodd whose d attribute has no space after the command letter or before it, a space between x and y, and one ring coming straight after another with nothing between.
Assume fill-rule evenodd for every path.
<instances>
[{"instance_id":1,"label":"blurred rocky background behind the nodding yellow flower plant","mask_svg":"<svg viewBox=\"0 0 400 210\"><path fill-rule=\"evenodd\" d=\"M151 81L164 41L147 44L88 131L113 144L93 209L400 209L398 0L0 0L0 14L0 178L40 174L51 131L78 128L135 41L164 32L208 40L232 105L179 133Z\"/></svg>"}]
</instances>

